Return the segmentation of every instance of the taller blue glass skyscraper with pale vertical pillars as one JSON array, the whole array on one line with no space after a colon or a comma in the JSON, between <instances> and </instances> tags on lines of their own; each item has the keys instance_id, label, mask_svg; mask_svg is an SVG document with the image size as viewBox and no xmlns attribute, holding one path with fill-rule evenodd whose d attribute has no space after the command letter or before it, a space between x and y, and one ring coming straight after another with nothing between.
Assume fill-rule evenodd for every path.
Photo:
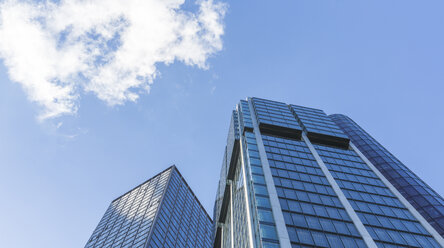
<instances>
[{"instance_id":1,"label":"taller blue glass skyscraper with pale vertical pillars","mask_svg":"<svg viewBox=\"0 0 444 248\"><path fill-rule=\"evenodd\" d=\"M259 98L240 101L214 205L214 247L444 247L439 228L415 208L427 207L415 198L424 191L439 195L406 170L384 176L392 169L339 119ZM412 203L400 178L418 191Z\"/></svg>"}]
</instances>

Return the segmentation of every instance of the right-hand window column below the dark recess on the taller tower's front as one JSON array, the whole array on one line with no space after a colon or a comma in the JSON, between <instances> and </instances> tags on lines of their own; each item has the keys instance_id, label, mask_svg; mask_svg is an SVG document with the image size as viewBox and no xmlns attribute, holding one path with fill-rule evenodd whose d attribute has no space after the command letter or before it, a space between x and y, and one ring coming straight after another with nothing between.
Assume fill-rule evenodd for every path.
<instances>
[{"instance_id":1,"label":"right-hand window column below the dark recess on the taller tower's front","mask_svg":"<svg viewBox=\"0 0 444 248\"><path fill-rule=\"evenodd\" d=\"M314 147L378 246L439 247L356 152L325 145ZM356 181L355 176L365 178L364 183Z\"/></svg>"}]
</instances>

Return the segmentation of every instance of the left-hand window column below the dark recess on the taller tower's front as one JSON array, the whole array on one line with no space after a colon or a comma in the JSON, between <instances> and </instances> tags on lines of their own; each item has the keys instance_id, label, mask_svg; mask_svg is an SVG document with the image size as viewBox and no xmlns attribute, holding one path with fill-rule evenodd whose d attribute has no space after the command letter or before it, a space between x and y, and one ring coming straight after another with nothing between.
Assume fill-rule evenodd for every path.
<instances>
[{"instance_id":1,"label":"left-hand window column below the dark recess on the taller tower's front","mask_svg":"<svg viewBox=\"0 0 444 248\"><path fill-rule=\"evenodd\" d=\"M303 141L262 135L294 247L366 247Z\"/></svg>"}]
</instances>

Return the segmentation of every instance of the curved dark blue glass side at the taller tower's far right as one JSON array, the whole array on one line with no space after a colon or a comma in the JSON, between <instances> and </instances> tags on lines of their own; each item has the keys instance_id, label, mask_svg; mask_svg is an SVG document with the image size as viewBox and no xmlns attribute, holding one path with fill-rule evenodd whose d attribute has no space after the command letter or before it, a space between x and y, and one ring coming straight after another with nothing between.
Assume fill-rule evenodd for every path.
<instances>
[{"instance_id":1,"label":"curved dark blue glass side at the taller tower's far right","mask_svg":"<svg viewBox=\"0 0 444 248\"><path fill-rule=\"evenodd\" d=\"M444 237L444 199L352 119L339 114L331 115L331 118L367 159Z\"/></svg>"}]
</instances>

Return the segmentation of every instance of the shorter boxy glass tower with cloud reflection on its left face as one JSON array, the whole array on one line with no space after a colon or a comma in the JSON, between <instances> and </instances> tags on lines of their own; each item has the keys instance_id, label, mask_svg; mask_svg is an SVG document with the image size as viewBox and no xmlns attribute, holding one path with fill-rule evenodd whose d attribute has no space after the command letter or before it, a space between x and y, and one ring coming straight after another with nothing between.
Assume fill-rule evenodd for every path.
<instances>
[{"instance_id":1,"label":"shorter boxy glass tower with cloud reflection on its left face","mask_svg":"<svg viewBox=\"0 0 444 248\"><path fill-rule=\"evenodd\" d=\"M211 218L172 166L112 201L85 248L208 248L211 230Z\"/></svg>"}]
</instances>

